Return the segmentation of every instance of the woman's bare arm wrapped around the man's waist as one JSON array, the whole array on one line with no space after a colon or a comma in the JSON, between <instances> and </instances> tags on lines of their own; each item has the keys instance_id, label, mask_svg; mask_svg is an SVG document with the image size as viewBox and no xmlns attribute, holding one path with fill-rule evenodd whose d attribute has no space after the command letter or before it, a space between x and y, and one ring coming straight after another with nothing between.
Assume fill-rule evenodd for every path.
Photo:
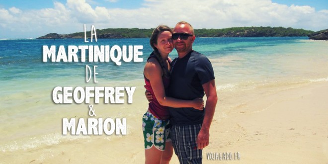
<instances>
[{"instance_id":1,"label":"woman's bare arm wrapped around the man's waist","mask_svg":"<svg viewBox=\"0 0 328 164\"><path fill-rule=\"evenodd\" d=\"M195 98L194 100L181 100L172 97L167 97L165 95L164 84L162 79L162 68L158 61L151 58L146 63L144 69L145 77L150 81L154 94L163 106L170 107L193 107L195 109L203 110L204 101L202 98Z\"/></svg>"}]
</instances>

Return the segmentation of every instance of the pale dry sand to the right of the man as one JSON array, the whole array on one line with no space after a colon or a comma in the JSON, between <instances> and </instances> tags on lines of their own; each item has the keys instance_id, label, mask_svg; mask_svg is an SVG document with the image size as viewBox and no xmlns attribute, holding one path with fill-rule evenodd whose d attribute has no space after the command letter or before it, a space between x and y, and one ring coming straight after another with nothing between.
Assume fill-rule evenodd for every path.
<instances>
[{"instance_id":1,"label":"pale dry sand to the right of the man","mask_svg":"<svg viewBox=\"0 0 328 164\"><path fill-rule=\"evenodd\" d=\"M327 164L327 96L328 83L320 82L240 104L226 118L213 122L204 163L218 163L207 160L207 152L231 152L233 160L220 162ZM240 160L235 160L235 152Z\"/></svg>"}]
</instances>

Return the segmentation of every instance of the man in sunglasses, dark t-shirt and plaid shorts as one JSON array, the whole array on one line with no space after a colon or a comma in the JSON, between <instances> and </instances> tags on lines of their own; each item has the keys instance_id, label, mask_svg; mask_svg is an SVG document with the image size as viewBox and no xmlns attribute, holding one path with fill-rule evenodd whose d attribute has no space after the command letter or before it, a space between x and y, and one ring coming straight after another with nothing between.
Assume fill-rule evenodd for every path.
<instances>
[{"instance_id":1,"label":"man in sunglasses, dark t-shirt and plaid shorts","mask_svg":"<svg viewBox=\"0 0 328 164\"><path fill-rule=\"evenodd\" d=\"M204 55L193 51L195 35L189 23L178 22L172 39L178 58L171 63L168 95L186 100L203 97L204 92L207 96L204 110L169 109L172 145L180 164L200 164L202 149L209 144L209 129L217 103L214 71Z\"/></svg>"}]
</instances>

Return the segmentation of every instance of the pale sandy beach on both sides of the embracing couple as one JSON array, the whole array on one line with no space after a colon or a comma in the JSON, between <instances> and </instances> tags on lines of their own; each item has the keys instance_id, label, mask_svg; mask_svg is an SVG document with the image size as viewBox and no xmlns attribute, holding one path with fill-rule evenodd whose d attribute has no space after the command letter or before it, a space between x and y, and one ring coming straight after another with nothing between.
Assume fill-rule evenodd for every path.
<instances>
[{"instance_id":1,"label":"pale sandy beach on both sides of the embracing couple","mask_svg":"<svg viewBox=\"0 0 328 164\"><path fill-rule=\"evenodd\" d=\"M229 97L224 92L218 95L204 164L327 164L327 81L245 91L230 102L223 99ZM136 97L142 101L142 92ZM241 97L245 101L237 101ZM143 108L136 112L141 115ZM0 163L143 164L140 120L133 115L127 120L125 136L71 136L42 149L2 152ZM178 164L175 155L171 164Z\"/></svg>"}]
</instances>

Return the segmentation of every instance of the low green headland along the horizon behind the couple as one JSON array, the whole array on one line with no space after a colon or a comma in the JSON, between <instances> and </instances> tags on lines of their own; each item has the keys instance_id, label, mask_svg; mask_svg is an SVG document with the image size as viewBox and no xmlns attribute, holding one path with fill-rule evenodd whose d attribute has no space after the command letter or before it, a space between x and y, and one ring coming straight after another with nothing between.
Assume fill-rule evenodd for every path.
<instances>
[{"instance_id":1,"label":"low green headland along the horizon behind the couple","mask_svg":"<svg viewBox=\"0 0 328 164\"><path fill-rule=\"evenodd\" d=\"M97 38L149 38L154 28L106 28L96 29ZM232 27L223 29L195 29L196 37L285 37L308 36L314 40L328 40L328 29L314 32L311 30L284 27ZM87 32L90 34L90 31ZM84 32L72 34L49 33L37 39L84 38Z\"/></svg>"}]
</instances>

